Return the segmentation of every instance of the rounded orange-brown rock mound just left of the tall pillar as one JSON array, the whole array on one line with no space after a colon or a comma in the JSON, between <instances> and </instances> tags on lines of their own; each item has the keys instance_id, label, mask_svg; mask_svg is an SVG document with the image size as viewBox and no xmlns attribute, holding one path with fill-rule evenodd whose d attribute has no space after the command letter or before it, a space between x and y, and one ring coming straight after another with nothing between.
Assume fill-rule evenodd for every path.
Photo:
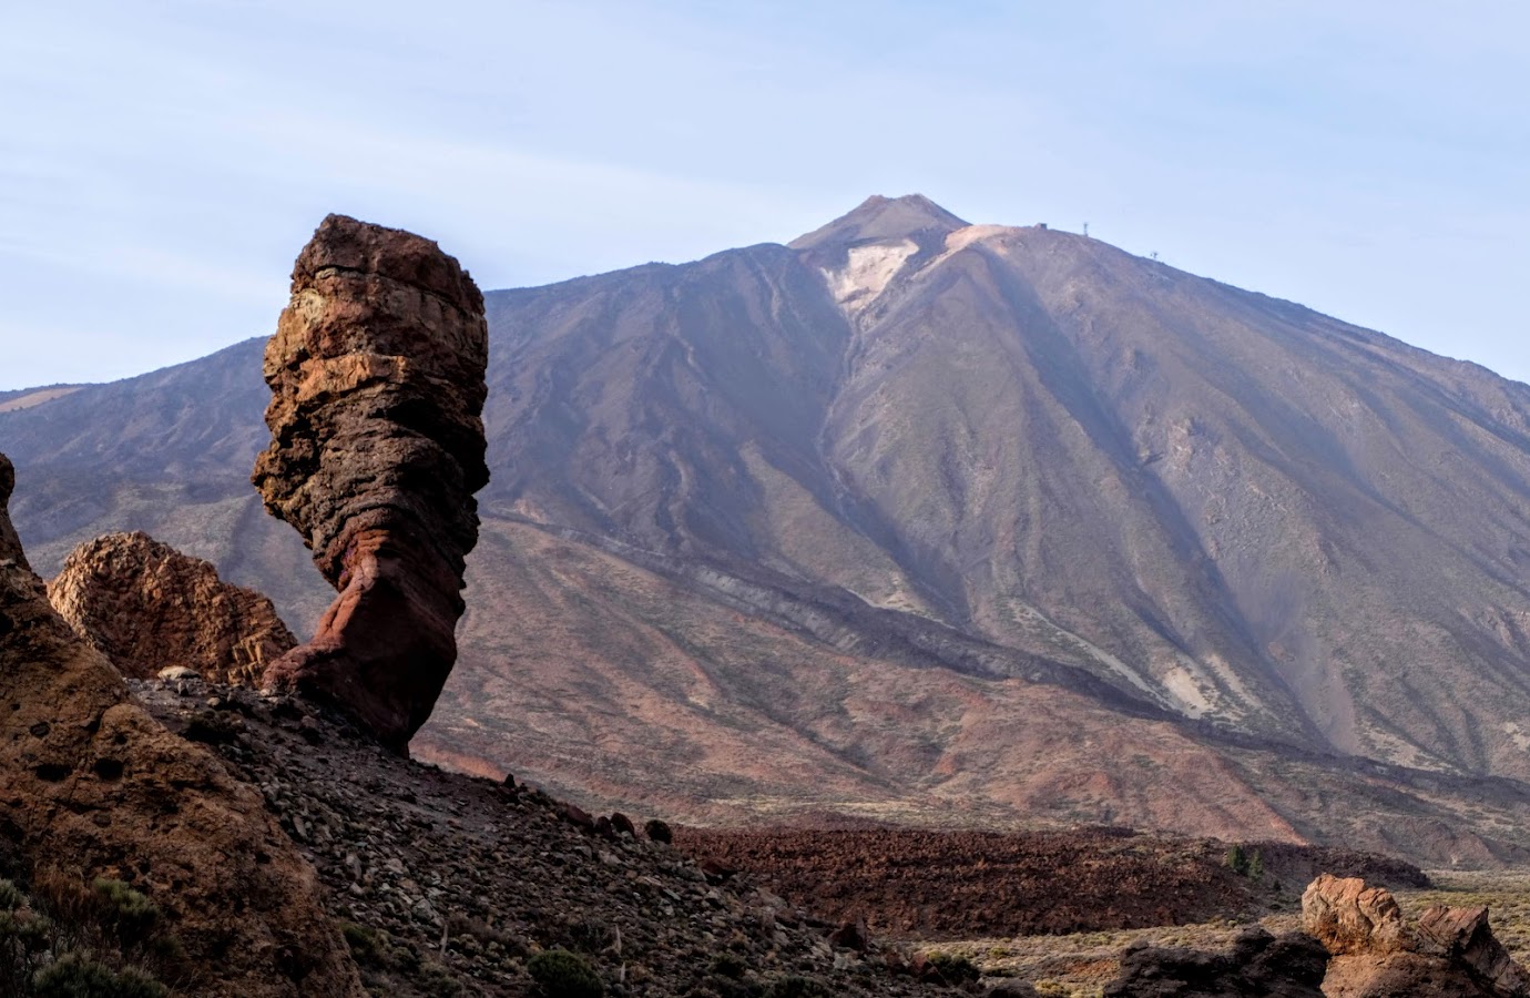
<instances>
[{"instance_id":1,"label":"rounded orange-brown rock mound just left of the tall pillar","mask_svg":"<svg viewBox=\"0 0 1530 998\"><path fill-rule=\"evenodd\" d=\"M256 686L297 646L265 595L144 533L75 548L47 583L47 598L125 677L185 666L217 683Z\"/></svg>"}]
</instances>

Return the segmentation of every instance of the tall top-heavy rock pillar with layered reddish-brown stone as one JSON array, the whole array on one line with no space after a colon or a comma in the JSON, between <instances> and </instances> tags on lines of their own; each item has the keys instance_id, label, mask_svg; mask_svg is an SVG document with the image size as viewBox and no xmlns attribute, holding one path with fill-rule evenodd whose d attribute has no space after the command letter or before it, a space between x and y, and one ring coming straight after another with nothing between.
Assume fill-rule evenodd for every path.
<instances>
[{"instance_id":1,"label":"tall top-heavy rock pillar with layered reddish-brown stone","mask_svg":"<svg viewBox=\"0 0 1530 998\"><path fill-rule=\"evenodd\" d=\"M473 493L488 482L483 297L419 236L329 216L266 346L272 442L252 481L340 597L268 684L404 750L456 661Z\"/></svg>"}]
</instances>

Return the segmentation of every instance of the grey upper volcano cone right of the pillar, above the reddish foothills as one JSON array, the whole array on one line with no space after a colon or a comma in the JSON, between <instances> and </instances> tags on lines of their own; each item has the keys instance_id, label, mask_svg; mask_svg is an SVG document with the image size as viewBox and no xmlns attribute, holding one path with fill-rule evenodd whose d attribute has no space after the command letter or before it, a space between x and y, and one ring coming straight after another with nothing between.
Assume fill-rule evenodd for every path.
<instances>
[{"instance_id":1,"label":"grey upper volcano cone right of the pillar, above the reddish foothills","mask_svg":"<svg viewBox=\"0 0 1530 998\"><path fill-rule=\"evenodd\" d=\"M794 246L493 295L520 373L491 502L843 586L1187 716L1530 771L1524 386L923 199Z\"/></svg>"}]
</instances>

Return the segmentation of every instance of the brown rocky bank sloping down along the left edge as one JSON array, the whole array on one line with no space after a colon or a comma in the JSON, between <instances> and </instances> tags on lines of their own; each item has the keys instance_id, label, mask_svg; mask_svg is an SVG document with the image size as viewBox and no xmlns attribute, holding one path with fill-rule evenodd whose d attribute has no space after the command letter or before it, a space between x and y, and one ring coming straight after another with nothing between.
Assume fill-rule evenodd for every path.
<instances>
[{"instance_id":1,"label":"brown rocky bank sloping down along the left edge","mask_svg":"<svg viewBox=\"0 0 1530 998\"><path fill-rule=\"evenodd\" d=\"M0 860L129 880L170 912L199 995L361 995L314 869L265 802L171 735L47 603L0 455Z\"/></svg>"}]
</instances>

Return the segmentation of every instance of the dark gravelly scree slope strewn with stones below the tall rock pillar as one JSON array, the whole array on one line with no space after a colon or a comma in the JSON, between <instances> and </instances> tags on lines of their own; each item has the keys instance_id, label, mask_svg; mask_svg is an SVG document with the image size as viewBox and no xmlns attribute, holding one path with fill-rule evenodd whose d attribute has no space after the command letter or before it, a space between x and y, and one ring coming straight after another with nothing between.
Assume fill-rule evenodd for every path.
<instances>
[{"instance_id":1,"label":"dark gravelly scree slope strewn with stones below the tall rock pillar","mask_svg":"<svg viewBox=\"0 0 1530 998\"><path fill-rule=\"evenodd\" d=\"M649 816L592 819L514 779L401 758L289 693L185 677L133 689L265 797L373 995L555 993L531 977L552 951L614 995L952 993L915 975L916 952L835 946L809 909L650 839Z\"/></svg>"}]
</instances>

